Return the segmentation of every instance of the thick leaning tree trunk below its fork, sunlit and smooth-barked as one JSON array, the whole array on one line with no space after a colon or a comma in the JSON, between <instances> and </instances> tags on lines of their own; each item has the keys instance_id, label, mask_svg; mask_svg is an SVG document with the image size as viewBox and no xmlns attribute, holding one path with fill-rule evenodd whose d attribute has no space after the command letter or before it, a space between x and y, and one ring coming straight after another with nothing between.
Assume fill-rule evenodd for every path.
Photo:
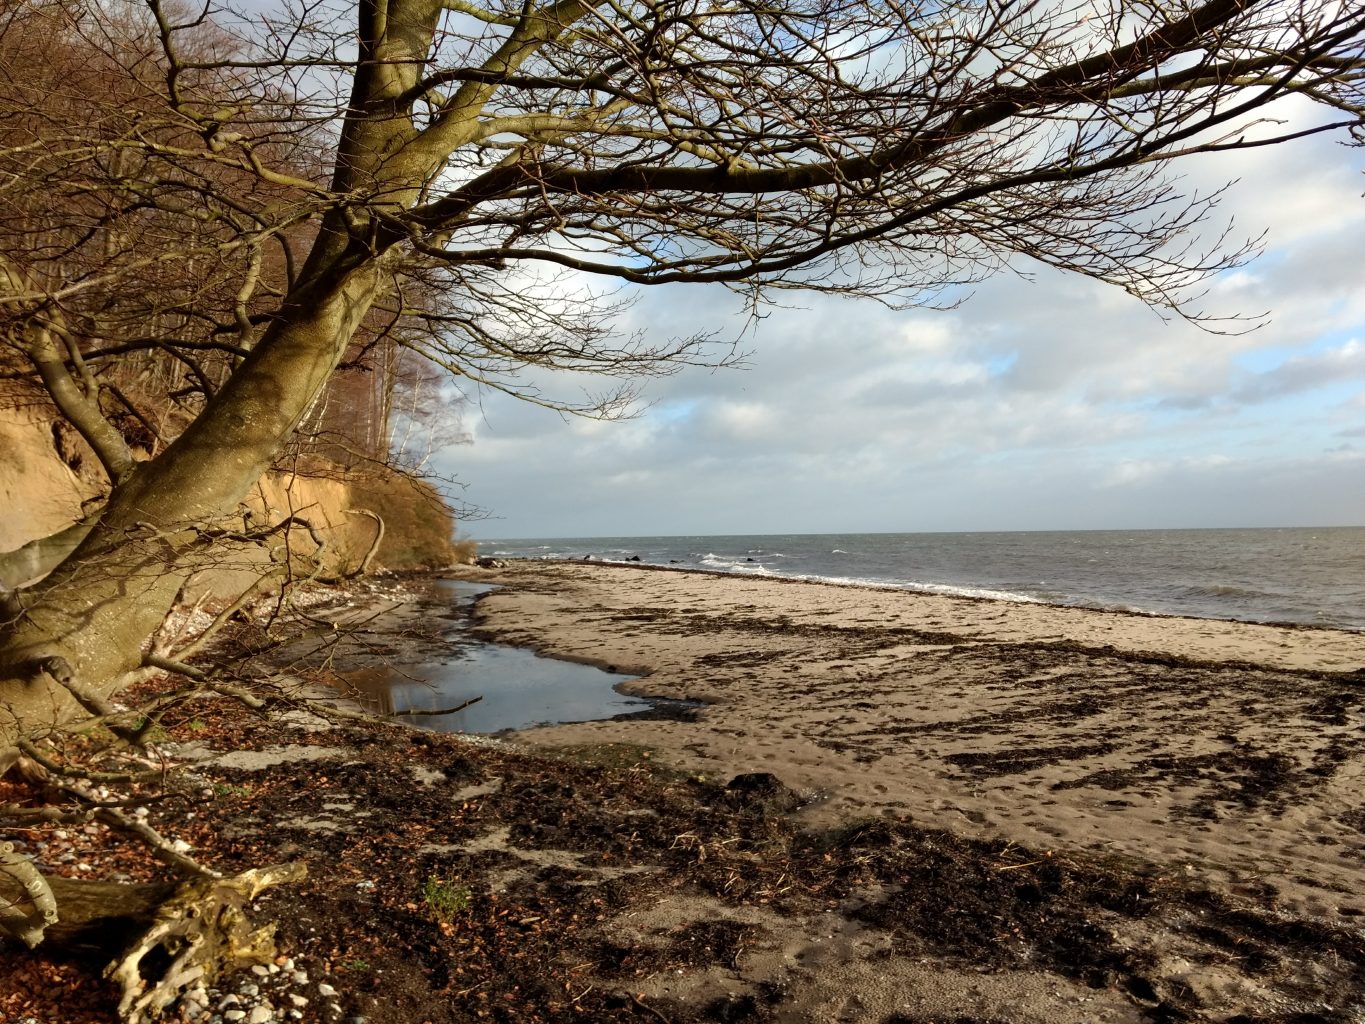
<instances>
[{"instance_id":1,"label":"thick leaning tree trunk below its fork, sunlit and smooth-barked","mask_svg":"<svg viewBox=\"0 0 1365 1024\"><path fill-rule=\"evenodd\" d=\"M0 752L87 711L74 689L108 699L141 666L182 584L214 560L202 527L269 468L374 302L379 261L351 250L340 232L319 240L303 284L203 414L19 595L22 613L0 627Z\"/></svg>"}]
</instances>

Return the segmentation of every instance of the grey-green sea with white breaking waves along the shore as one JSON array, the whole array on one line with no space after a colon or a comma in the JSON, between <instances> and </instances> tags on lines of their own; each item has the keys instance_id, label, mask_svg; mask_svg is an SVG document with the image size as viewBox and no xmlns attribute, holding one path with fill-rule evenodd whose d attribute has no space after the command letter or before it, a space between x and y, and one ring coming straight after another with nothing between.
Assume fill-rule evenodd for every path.
<instances>
[{"instance_id":1,"label":"grey-green sea with white breaking waves along the shore","mask_svg":"<svg viewBox=\"0 0 1365 1024\"><path fill-rule=\"evenodd\" d=\"M1365 629L1365 527L517 538L479 553Z\"/></svg>"}]
</instances>

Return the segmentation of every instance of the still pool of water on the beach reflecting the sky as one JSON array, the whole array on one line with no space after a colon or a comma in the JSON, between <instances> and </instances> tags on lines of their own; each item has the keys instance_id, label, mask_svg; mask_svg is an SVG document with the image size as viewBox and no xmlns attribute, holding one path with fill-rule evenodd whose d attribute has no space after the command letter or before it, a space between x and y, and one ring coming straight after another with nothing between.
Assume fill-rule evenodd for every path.
<instances>
[{"instance_id":1,"label":"still pool of water on the beach reflecting the sky","mask_svg":"<svg viewBox=\"0 0 1365 1024\"><path fill-rule=\"evenodd\" d=\"M464 612L452 623L449 650L437 659L347 672L343 677L354 691L351 696L425 729L475 733L622 715L677 718L696 707L691 702L617 692L616 687L632 676L543 658L524 647L471 640L468 613L493 587L460 580L442 580L440 586ZM463 710L441 714L475 698L478 702Z\"/></svg>"}]
</instances>

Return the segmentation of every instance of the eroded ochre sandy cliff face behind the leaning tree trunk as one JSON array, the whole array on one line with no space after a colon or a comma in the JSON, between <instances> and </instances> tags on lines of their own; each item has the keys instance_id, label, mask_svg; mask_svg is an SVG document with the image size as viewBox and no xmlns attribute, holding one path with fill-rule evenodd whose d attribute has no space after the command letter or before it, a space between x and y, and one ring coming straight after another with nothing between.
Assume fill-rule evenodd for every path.
<instances>
[{"instance_id":1,"label":"eroded ochre sandy cliff face behind the leaning tree trunk","mask_svg":"<svg viewBox=\"0 0 1365 1024\"><path fill-rule=\"evenodd\" d=\"M82 516L85 502L106 489L94 455L67 430L53 431L38 408L0 408L0 552L48 537ZM356 509L384 517L384 543L374 568L434 568L455 558L453 520L426 483L388 470L347 471L321 460L300 460L291 472L263 477L243 502L254 522L278 522L295 515L308 520L326 543L328 572L356 567L377 532L375 522ZM268 519L266 519L268 517ZM292 550L311 553L306 531L292 531ZM251 571L263 553L231 556L231 568Z\"/></svg>"}]
</instances>

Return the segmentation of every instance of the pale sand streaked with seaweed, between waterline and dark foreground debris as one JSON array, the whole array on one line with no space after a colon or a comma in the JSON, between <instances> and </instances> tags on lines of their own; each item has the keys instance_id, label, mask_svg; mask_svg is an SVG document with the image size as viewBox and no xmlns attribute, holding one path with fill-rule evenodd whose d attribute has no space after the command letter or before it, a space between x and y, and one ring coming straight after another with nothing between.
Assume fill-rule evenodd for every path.
<instances>
[{"instance_id":1,"label":"pale sand streaked with seaweed, between waterline and dark foreground debris","mask_svg":"<svg viewBox=\"0 0 1365 1024\"><path fill-rule=\"evenodd\" d=\"M1365 635L734 575L512 564L483 635L707 702L536 729L771 771L812 823L895 814L1153 862L1365 922Z\"/></svg>"}]
</instances>

